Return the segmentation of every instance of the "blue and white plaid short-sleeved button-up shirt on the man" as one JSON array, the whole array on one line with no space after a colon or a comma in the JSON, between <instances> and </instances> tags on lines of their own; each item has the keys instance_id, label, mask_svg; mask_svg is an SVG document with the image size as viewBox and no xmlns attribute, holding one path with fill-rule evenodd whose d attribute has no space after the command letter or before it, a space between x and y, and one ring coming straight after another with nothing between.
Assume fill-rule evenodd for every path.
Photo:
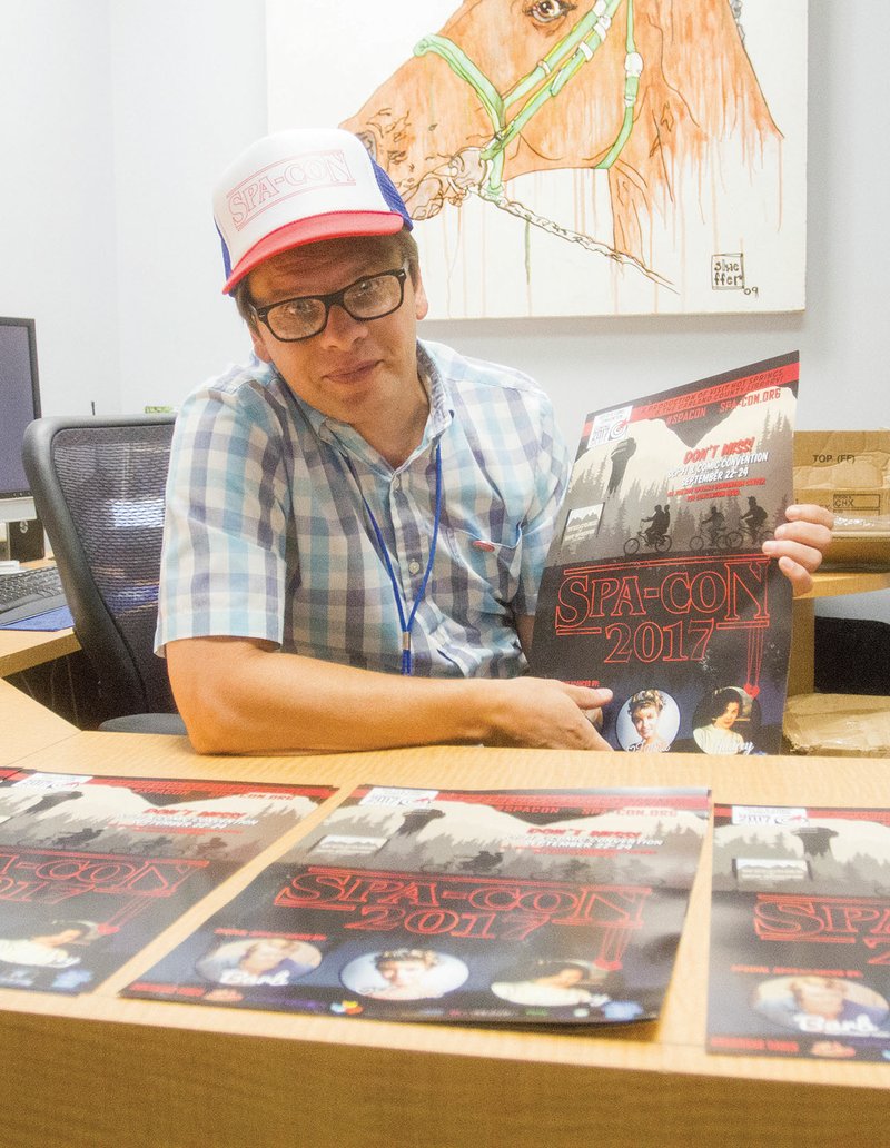
<instances>
[{"instance_id":1,"label":"blue and white plaid short-sleeved button-up shirt on the man","mask_svg":"<svg viewBox=\"0 0 890 1148\"><path fill-rule=\"evenodd\" d=\"M158 650L229 635L398 673L398 611L365 501L408 616L429 556L439 442L441 522L413 673L523 672L513 619L535 610L565 444L527 377L436 343L418 343L418 370L429 416L396 470L256 359L188 397L170 460Z\"/></svg>"}]
</instances>

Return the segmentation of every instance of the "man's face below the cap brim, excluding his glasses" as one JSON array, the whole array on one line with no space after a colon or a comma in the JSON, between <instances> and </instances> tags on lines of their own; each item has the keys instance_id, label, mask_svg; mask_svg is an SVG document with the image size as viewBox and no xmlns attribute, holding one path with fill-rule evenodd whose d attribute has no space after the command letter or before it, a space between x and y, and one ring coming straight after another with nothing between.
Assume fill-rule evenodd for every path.
<instances>
[{"instance_id":1,"label":"man's face below the cap brim, excluding his glasses","mask_svg":"<svg viewBox=\"0 0 890 1148\"><path fill-rule=\"evenodd\" d=\"M266 259L250 272L248 286L256 307L303 295L327 295L363 276L402 265L390 238L332 239L309 243ZM296 343L279 342L258 324L254 350L273 363L295 395L317 411L359 430L392 419L417 381L417 320L427 311L423 284L405 280L404 301L381 319L353 319L334 305L327 326ZM370 424L369 424L370 420Z\"/></svg>"}]
</instances>

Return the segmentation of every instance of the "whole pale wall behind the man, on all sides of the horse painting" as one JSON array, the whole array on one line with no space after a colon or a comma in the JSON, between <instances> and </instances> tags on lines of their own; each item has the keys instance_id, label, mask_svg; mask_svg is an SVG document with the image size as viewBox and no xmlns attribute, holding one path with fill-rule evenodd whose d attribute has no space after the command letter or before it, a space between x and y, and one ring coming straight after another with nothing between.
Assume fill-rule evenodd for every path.
<instances>
[{"instance_id":1,"label":"whole pale wall behind the man, on all sides of the horse painting","mask_svg":"<svg viewBox=\"0 0 890 1148\"><path fill-rule=\"evenodd\" d=\"M218 172L265 130L263 0L2 11L0 313L37 318L47 412L178 404L247 346L218 293L209 204ZM570 441L611 396L792 349L799 427L890 425L888 42L885 0L810 3L803 315L438 321L425 334L535 375ZM890 618L890 595L819 608Z\"/></svg>"}]
</instances>

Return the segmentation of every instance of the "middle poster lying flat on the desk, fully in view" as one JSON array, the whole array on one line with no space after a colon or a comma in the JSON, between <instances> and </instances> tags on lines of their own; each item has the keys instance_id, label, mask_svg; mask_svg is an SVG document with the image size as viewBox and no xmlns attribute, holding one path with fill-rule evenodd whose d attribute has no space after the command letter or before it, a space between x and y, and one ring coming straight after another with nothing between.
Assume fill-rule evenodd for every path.
<instances>
[{"instance_id":1,"label":"middle poster lying flat on the desk, fully in view","mask_svg":"<svg viewBox=\"0 0 890 1148\"><path fill-rule=\"evenodd\" d=\"M703 789L366 785L125 996L396 1021L658 1015Z\"/></svg>"}]
</instances>

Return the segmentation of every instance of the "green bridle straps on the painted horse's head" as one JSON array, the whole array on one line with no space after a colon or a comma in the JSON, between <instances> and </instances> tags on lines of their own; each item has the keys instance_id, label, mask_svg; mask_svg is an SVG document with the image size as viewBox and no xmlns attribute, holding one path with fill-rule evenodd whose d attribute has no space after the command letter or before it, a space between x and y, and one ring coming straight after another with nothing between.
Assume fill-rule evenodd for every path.
<instances>
[{"instance_id":1,"label":"green bridle straps on the painted horse's head","mask_svg":"<svg viewBox=\"0 0 890 1148\"><path fill-rule=\"evenodd\" d=\"M503 194L504 153L532 117L548 100L555 99L578 71L589 63L605 41L612 17L621 0L597 0L572 30L555 45L535 68L501 95L492 82L454 40L446 36L425 36L415 47L415 55L434 53L475 92L492 122L494 134L480 152L487 165L487 179L480 187L483 199L497 200ZM634 104L640 90L643 60L634 46L634 0L626 0L627 33L625 40L625 113L621 127L606 155L595 164L611 168L627 142L634 126ZM526 99L527 98L527 99ZM520 100L525 103L508 123L508 111Z\"/></svg>"}]
</instances>

